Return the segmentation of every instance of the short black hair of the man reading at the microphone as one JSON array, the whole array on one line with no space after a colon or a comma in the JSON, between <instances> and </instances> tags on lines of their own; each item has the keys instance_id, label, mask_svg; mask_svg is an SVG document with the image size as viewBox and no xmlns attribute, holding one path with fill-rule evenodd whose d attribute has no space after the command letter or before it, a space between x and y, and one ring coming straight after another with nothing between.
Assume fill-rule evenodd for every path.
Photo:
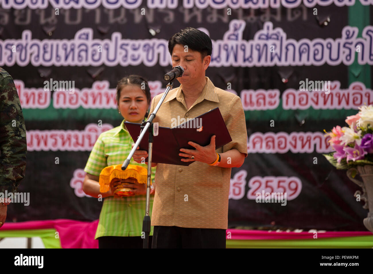
<instances>
[{"instance_id":1,"label":"short black hair of the man reading at the microphone","mask_svg":"<svg viewBox=\"0 0 373 274\"><path fill-rule=\"evenodd\" d=\"M173 47L176 44L187 45L188 48L201 53L201 59L212 53L212 42L206 33L195 28L188 26L178 33L172 35L168 40L168 51L172 56Z\"/></svg>"}]
</instances>

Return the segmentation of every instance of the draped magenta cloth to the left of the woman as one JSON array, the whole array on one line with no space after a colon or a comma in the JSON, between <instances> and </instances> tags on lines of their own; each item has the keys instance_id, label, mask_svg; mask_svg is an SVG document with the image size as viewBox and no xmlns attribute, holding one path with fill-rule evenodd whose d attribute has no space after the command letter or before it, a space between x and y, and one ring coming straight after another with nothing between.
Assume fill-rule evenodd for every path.
<instances>
[{"instance_id":1,"label":"draped magenta cloth to the left of the woman","mask_svg":"<svg viewBox=\"0 0 373 274\"><path fill-rule=\"evenodd\" d=\"M62 248L98 248L94 239L98 220L82 222L67 219L27 221L19 223L6 222L1 230L51 229L59 233Z\"/></svg>"}]
</instances>

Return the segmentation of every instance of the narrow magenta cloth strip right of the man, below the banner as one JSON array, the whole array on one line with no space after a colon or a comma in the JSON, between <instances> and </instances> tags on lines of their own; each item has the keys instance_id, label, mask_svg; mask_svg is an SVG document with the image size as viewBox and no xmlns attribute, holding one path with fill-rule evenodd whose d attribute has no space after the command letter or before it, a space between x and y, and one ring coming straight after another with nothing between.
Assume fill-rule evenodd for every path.
<instances>
[{"instance_id":1,"label":"narrow magenta cloth strip right of the man, below the banner","mask_svg":"<svg viewBox=\"0 0 373 274\"><path fill-rule=\"evenodd\" d=\"M229 232L231 232L229 234ZM310 239L313 237L313 232L276 232L268 230L243 230L243 229L227 229L227 239L232 240L282 240L282 239ZM228 235L230 238L228 238ZM317 231L318 238L333 238L333 237L356 237L369 236L372 232L369 231Z\"/></svg>"}]
</instances>

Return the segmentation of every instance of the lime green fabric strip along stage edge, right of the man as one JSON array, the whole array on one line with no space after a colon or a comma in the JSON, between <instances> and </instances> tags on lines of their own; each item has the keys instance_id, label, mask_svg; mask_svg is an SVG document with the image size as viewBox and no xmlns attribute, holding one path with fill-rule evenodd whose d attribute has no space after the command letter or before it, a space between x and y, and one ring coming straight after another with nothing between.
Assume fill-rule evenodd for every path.
<instances>
[{"instance_id":1,"label":"lime green fabric strip along stage edge, right of the man","mask_svg":"<svg viewBox=\"0 0 373 274\"><path fill-rule=\"evenodd\" d=\"M373 248L373 235L300 240L227 240L226 248Z\"/></svg>"}]
</instances>

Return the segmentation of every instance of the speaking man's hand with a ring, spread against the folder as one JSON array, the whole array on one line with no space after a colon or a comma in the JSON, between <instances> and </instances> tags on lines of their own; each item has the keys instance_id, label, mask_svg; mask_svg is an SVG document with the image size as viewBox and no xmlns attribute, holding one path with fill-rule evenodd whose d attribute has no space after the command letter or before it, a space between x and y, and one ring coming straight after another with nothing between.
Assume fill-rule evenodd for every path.
<instances>
[{"instance_id":1,"label":"speaking man's hand with a ring, spread against the folder","mask_svg":"<svg viewBox=\"0 0 373 274\"><path fill-rule=\"evenodd\" d=\"M186 157L186 159L181 159L183 162L191 162L191 161L199 161L206 164L212 164L216 160L216 152L215 152L215 138L216 136L213 135L211 137L210 144L206 147L201 147L200 145L194 142L188 142L189 145L194 147L195 149L186 149L181 148L179 156ZM184 152L184 153L183 153ZM194 155L194 159L191 159L192 155Z\"/></svg>"}]
</instances>

